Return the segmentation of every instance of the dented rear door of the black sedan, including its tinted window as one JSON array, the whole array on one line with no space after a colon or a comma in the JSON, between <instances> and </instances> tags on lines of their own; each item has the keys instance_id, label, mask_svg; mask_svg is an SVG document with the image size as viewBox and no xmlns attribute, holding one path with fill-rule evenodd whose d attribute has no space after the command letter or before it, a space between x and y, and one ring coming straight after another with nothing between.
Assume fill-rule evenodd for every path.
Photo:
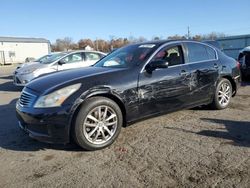
<instances>
[{"instance_id":1,"label":"dented rear door of the black sedan, including its tinted window","mask_svg":"<svg viewBox=\"0 0 250 188\"><path fill-rule=\"evenodd\" d=\"M211 100L219 77L220 62L212 47L198 42L185 42L187 64L190 67L190 89L193 103Z\"/></svg>"}]
</instances>

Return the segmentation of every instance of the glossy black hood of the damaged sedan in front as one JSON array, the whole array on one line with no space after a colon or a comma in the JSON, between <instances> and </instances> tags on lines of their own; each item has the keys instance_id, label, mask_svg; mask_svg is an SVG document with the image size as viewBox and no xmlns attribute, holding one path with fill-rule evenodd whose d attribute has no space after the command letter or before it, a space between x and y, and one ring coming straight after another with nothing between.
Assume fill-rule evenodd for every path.
<instances>
[{"instance_id":1,"label":"glossy black hood of the damaged sedan in front","mask_svg":"<svg viewBox=\"0 0 250 188\"><path fill-rule=\"evenodd\" d=\"M65 83L71 83L74 81L82 82L82 79L97 76L100 74L106 74L110 72L116 72L120 69L116 68L102 68L102 67L87 67L87 68L78 68L56 72L53 74L43 75L31 81L26 87L38 92L43 93L47 90L53 90L60 85Z\"/></svg>"}]
</instances>

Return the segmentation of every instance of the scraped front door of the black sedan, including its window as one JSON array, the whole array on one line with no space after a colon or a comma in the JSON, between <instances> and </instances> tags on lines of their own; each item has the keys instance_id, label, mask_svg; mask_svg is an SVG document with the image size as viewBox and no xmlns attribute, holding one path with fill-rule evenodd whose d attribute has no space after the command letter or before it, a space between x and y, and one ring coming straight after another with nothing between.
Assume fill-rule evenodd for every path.
<instances>
[{"instance_id":1,"label":"scraped front door of the black sedan, including its window","mask_svg":"<svg viewBox=\"0 0 250 188\"><path fill-rule=\"evenodd\" d=\"M189 104L190 71L185 64L183 47L175 44L162 48L149 62L164 60L168 68L139 74L139 110L142 116L176 110Z\"/></svg>"}]
</instances>

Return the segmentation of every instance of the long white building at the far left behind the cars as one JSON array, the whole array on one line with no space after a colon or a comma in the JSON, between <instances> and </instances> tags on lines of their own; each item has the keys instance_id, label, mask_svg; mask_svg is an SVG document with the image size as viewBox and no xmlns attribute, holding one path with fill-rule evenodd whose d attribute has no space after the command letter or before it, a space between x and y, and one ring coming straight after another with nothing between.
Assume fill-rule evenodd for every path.
<instances>
[{"instance_id":1,"label":"long white building at the far left behind the cars","mask_svg":"<svg viewBox=\"0 0 250 188\"><path fill-rule=\"evenodd\" d=\"M42 38L0 37L0 64L23 63L50 53L50 42Z\"/></svg>"}]
</instances>

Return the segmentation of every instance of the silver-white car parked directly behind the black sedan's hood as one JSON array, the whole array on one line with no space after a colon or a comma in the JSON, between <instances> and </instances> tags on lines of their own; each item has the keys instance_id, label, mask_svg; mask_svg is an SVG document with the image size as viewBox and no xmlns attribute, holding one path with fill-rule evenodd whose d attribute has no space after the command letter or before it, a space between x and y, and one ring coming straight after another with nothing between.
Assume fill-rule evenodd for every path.
<instances>
[{"instance_id":1,"label":"silver-white car parked directly behind the black sedan's hood","mask_svg":"<svg viewBox=\"0 0 250 188\"><path fill-rule=\"evenodd\" d=\"M91 66L105 55L105 53L98 51L71 51L52 54L44 61L28 63L17 68L13 74L13 82L16 86L25 86L43 74Z\"/></svg>"}]
</instances>

